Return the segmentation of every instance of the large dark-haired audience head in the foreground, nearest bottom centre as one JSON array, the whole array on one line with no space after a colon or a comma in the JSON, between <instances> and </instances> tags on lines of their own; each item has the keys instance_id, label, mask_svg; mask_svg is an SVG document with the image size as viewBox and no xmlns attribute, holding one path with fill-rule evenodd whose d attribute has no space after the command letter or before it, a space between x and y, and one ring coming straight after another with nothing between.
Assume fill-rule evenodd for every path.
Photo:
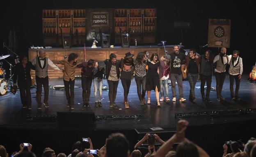
<instances>
[{"instance_id":1,"label":"large dark-haired audience head in the foreground, nearest bottom centre","mask_svg":"<svg viewBox=\"0 0 256 157\"><path fill-rule=\"evenodd\" d=\"M121 133L113 133L107 138L105 157L130 157L129 142Z\"/></svg>"}]
</instances>

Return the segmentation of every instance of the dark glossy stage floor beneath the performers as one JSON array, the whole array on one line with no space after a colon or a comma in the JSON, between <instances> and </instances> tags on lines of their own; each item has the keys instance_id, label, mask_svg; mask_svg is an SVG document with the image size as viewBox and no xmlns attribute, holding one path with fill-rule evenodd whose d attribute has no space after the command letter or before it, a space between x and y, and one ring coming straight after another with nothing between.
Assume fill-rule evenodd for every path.
<instances>
[{"instance_id":1,"label":"dark glossy stage floor beneath the performers","mask_svg":"<svg viewBox=\"0 0 256 157\"><path fill-rule=\"evenodd\" d=\"M31 89L32 93L32 110L22 109L20 94L15 95L7 92L6 95L0 96L0 125L2 127L18 128L37 128L40 126L44 129L57 129L56 116L57 112L85 112L95 113L96 122L93 127L87 130L112 130L112 129L137 129L143 130L152 127L161 127L167 130L175 130L176 123L179 119L189 119L192 126L203 126L208 124L225 124L229 122L246 121L256 119L256 112L247 111L250 108L256 108L256 84L247 81L248 75L243 75L240 82L239 96L240 101L231 100L229 91L229 76L226 75L222 95L225 101L217 102L216 92L210 92L212 103L206 103L201 100L200 81L197 82L195 93L197 103L193 104L188 100L189 82L183 81L184 97L186 102L161 102L161 107L156 106L155 92L151 92L151 104L141 106L137 96L137 87L135 80L132 80L130 92L128 95L129 109L124 108L123 104L123 87L119 81L116 106L109 107L108 91L103 90L102 107L94 107L94 88L91 86L90 108L82 107L82 88L81 80L75 80L75 110L71 111L66 107L66 97L64 89L54 90L53 86L63 85L62 79L50 79L49 101L50 108L42 107L41 111L37 110L35 100L36 88ZM107 81L103 80L103 85ZM215 77L213 76L212 87L215 87ZM176 92L178 88L176 86ZM169 98L172 99L171 86L169 86ZM147 97L146 97L147 99ZM42 97L43 100L43 97ZM216 111L216 112L212 112ZM183 113L183 115L177 115ZM31 118L31 117L34 117ZM41 118L39 118L41 117ZM35 124L35 125L33 125ZM150 129L148 130L150 131Z\"/></svg>"}]
</instances>

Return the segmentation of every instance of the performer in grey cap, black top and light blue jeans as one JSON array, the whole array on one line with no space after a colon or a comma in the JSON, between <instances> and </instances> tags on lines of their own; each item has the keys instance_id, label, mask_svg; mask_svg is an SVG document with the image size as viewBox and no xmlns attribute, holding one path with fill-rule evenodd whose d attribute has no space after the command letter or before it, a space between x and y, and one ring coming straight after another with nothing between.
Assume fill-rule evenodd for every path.
<instances>
[{"instance_id":1,"label":"performer in grey cap, black top and light blue jeans","mask_svg":"<svg viewBox=\"0 0 256 157\"><path fill-rule=\"evenodd\" d=\"M105 77L105 63L98 62L98 68L94 68L94 100L95 107L101 107L101 96L102 96L102 84L103 84L103 74Z\"/></svg>"}]
</instances>

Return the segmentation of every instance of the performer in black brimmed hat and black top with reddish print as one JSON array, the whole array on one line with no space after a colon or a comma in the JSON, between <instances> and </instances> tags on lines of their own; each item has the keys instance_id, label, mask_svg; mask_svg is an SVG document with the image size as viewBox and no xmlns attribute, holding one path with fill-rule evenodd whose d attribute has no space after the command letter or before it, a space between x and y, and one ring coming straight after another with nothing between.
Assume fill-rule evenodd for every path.
<instances>
[{"instance_id":1,"label":"performer in black brimmed hat and black top with reddish print","mask_svg":"<svg viewBox=\"0 0 256 157\"><path fill-rule=\"evenodd\" d=\"M131 79L133 78L133 72L135 65L133 62L133 54L130 52L126 53L125 57L121 59L121 82L123 85L123 103L125 108L129 108L128 104L128 93L130 89Z\"/></svg>"}]
</instances>

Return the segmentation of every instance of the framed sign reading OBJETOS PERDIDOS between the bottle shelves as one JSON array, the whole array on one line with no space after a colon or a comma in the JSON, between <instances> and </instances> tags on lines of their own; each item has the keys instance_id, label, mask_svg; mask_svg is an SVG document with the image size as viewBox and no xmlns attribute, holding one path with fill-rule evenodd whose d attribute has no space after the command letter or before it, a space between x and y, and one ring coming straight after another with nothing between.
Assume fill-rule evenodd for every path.
<instances>
[{"instance_id":1,"label":"framed sign reading OBJETOS PERDIDOS between the bottle shelves","mask_svg":"<svg viewBox=\"0 0 256 157\"><path fill-rule=\"evenodd\" d=\"M109 12L91 12L91 27L109 26Z\"/></svg>"}]
</instances>

